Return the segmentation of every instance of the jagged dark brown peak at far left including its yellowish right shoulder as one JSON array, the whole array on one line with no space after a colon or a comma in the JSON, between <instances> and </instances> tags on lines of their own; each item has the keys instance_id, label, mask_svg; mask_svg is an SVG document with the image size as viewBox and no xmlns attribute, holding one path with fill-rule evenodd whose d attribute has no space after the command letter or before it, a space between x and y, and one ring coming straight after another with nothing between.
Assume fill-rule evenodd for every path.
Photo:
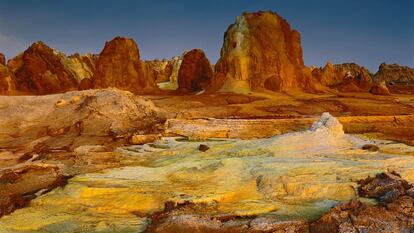
<instances>
[{"instance_id":1,"label":"jagged dark brown peak at far left including its yellowish right shoulder","mask_svg":"<svg viewBox=\"0 0 414 233\"><path fill-rule=\"evenodd\" d=\"M93 73L93 61L87 56L66 57L41 41L11 59L8 67L15 75L16 89L32 94L76 90Z\"/></svg>"}]
</instances>

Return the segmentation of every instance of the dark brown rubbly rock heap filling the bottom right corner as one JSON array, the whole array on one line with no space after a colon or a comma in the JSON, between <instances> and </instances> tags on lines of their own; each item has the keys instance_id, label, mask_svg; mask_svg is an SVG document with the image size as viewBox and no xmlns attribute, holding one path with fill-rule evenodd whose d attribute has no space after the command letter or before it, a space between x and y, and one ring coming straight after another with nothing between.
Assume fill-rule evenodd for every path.
<instances>
[{"instance_id":1,"label":"dark brown rubbly rock heap filling the bottom right corner","mask_svg":"<svg viewBox=\"0 0 414 233\"><path fill-rule=\"evenodd\" d=\"M359 181L359 195L377 206L353 200L312 223L310 232L411 232L414 229L414 188L395 173Z\"/></svg>"}]
</instances>

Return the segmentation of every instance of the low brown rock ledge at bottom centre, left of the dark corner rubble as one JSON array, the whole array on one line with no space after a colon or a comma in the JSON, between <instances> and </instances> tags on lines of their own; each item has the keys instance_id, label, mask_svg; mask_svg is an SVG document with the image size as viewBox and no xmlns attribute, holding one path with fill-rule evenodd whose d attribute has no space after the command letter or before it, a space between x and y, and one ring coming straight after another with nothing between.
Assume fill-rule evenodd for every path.
<instances>
[{"instance_id":1,"label":"low brown rock ledge at bottom centre, left of the dark corner rubble","mask_svg":"<svg viewBox=\"0 0 414 233\"><path fill-rule=\"evenodd\" d=\"M237 218L233 215L203 213L205 204L175 204L167 202L163 211L151 216L146 232L206 232L206 233L309 233L304 221L279 221L274 218Z\"/></svg>"}]
</instances>

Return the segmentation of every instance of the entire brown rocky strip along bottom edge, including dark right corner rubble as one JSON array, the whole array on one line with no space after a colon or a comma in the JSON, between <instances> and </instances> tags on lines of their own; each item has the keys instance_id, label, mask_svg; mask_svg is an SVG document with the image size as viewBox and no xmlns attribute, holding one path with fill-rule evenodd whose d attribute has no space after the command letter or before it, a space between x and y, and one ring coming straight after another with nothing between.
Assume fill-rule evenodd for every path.
<instances>
[{"instance_id":1,"label":"entire brown rocky strip along bottom edge, including dark right corner rubble","mask_svg":"<svg viewBox=\"0 0 414 233\"><path fill-rule=\"evenodd\" d=\"M378 205L352 200L332 208L313 222L287 221L277 217L238 218L209 214L209 204L165 203L151 217L147 232L411 232L414 229L414 188L396 173L381 173L359 181L359 195L375 198ZM206 211L207 210L207 211Z\"/></svg>"}]
</instances>

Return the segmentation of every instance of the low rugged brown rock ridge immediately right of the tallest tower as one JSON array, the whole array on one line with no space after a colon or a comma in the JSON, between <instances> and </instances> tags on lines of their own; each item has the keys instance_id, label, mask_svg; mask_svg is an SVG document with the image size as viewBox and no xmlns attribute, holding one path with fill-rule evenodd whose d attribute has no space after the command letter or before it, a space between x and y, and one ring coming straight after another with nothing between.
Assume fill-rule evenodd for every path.
<instances>
[{"instance_id":1,"label":"low rugged brown rock ridge immediately right of the tallest tower","mask_svg":"<svg viewBox=\"0 0 414 233\"><path fill-rule=\"evenodd\" d=\"M334 65L312 70L312 75L323 85L342 92L368 91L373 85L371 73L355 63Z\"/></svg>"}]
</instances>

